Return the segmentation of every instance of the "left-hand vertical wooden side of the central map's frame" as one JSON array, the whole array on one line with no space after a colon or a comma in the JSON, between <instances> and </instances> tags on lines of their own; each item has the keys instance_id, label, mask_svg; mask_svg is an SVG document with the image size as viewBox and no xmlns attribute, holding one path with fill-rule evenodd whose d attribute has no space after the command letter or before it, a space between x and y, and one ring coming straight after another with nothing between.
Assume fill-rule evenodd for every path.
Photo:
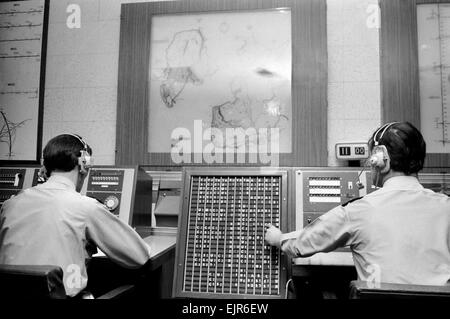
<instances>
[{"instance_id":1,"label":"left-hand vertical wooden side of the central map's frame","mask_svg":"<svg viewBox=\"0 0 450 319\"><path fill-rule=\"evenodd\" d=\"M149 23L146 10L122 6L116 165L142 164L143 150L147 149Z\"/></svg>"}]
</instances>

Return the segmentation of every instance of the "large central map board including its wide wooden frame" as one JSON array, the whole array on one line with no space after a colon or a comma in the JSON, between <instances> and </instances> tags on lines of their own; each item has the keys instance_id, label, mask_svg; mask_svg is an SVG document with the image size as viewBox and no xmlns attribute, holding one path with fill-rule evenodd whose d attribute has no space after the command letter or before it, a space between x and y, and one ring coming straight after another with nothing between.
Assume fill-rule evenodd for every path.
<instances>
[{"instance_id":1,"label":"large central map board including its wide wooden frame","mask_svg":"<svg viewBox=\"0 0 450 319\"><path fill-rule=\"evenodd\" d=\"M291 41L290 45L286 45L286 50L275 49L283 45L282 42L277 42L275 36L268 37L272 39L271 41L275 41L272 48L270 43L261 43L258 40L260 34L264 32L261 21L268 21L266 16L269 15L271 19L276 19L278 14L286 17L287 13L291 23L279 29L283 30L282 32L291 32L290 36L286 34L281 37ZM255 22L244 23L247 15L253 15ZM214 21L214 17L218 19L217 22ZM247 28L245 32L230 28L232 25L230 22L234 21L233 19L237 21L233 25L242 25L244 29ZM270 21L267 24L270 26ZM252 28L256 30L253 29L252 32ZM161 30L164 30L165 34ZM231 78L236 81L226 80L223 84L216 84L217 81L211 80L214 72L217 72L216 66L219 65L219 72L225 73L227 63L223 60L218 63L217 57L226 57L226 54L217 53L220 51L220 47L217 48L217 43L220 45L217 36L227 33L235 38L234 42L229 39L225 41L223 48L224 50L229 48L230 43L231 47L235 45L234 55L229 61L229 71L233 73ZM288 132L290 138L281 139L286 145L279 153L278 164L326 165L326 1L187 0L123 4L120 35L116 164L183 166L211 164L202 154L199 154L204 150L200 147L200 152L197 152L193 143L191 156L181 163L174 161L171 153L168 152L167 147L171 137L167 135L173 129L167 130L163 123L170 123L170 120L180 121L182 113L171 117L169 112L185 103L184 107L195 111L202 107L206 109L209 105L210 110L206 112L209 117L204 117L206 119L204 122L207 125L214 122L216 128L226 128L227 126L223 125L227 121L228 124L233 122L235 127L247 128L248 126L243 123L246 123L248 119L253 122L266 121L270 127L270 125L279 125L287 119L287 123L284 123L287 125L283 134ZM251 41L254 43L252 44ZM237 46L238 44L241 47ZM160 48L155 48L155 45L160 45ZM242 57L248 60L248 64L252 63L250 55L252 50L259 53L265 52L263 56L267 56L268 60L272 61L263 67L257 67L256 64L250 67L257 77L273 83L275 77L280 76L282 72L285 73L282 76L285 81L278 87L279 90L274 89L274 85L269 85L268 90L263 85L256 89L254 86L247 86L249 89L245 90L246 85L240 82L239 70L236 68L238 64L236 52L244 49L246 45L250 49L244 52ZM158 52L158 50L159 53L155 54L159 58L155 54L152 56L152 52ZM213 52L214 50L216 53ZM289 67L273 66L273 61L276 62L276 59L270 57L271 50L276 52L272 57L279 56L280 52L291 53L290 57L286 54L287 58L280 56L280 60L291 59L291 62L288 62ZM288 50L291 52L285 52ZM198 61L199 56L204 57L207 54L210 54L209 59ZM261 58L256 53L254 56L255 60ZM159 69L152 68L152 63L154 66L158 66L159 63ZM270 64L272 68L267 67ZM153 71L155 74L152 74ZM248 80L250 76L245 75L248 74L245 72L247 71L243 71L241 75ZM155 79L159 80L156 85L152 83ZM265 91L270 90L273 94L265 96L264 94L267 93ZM253 92L257 93L252 95ZM264 92L264 94L258 96L258 92ZM211 98L208 94L214 94L214 101L206 103L206 106L198 106L192 102L195 101L193 97L195 98L198 94L204 94L202 95L204 99ZM199 101L202 102L204 99L201 98ZM249 100L251 102L258 100L266 109L272 110L273 116L255 116L254 109L246 107ZM190 102L187 103L188 101ZM236 101L238 102L234 103ZM280 104L284 107L279 107ZM237 107L234 108L235 106ZM164 112L155 113L157 107L162 107ZM248 116L249 110L253 112L250 116ZM233 114L237 114L237 117ZM212 120L213 118L215 121ZM190 123L185 128L194 135L193 118L189 120ZM156 127L153 127L151 123L154 123ZM157 128L158 125L160 129ZM204 131L200 132L202 133L204 134ZM176 142L174 141L174 144ZM162 147L159 147L158 143L161 143ZM153 147L155 145L156 147ZM255 161L251 161L253 159L251 154L246 152L244 161L236 160L238 154L234 154L236 157L233 157L231 161L228 161L224 155L222 162L212 164L270 165L258 157Z\"/></svg>"}]
</instances>

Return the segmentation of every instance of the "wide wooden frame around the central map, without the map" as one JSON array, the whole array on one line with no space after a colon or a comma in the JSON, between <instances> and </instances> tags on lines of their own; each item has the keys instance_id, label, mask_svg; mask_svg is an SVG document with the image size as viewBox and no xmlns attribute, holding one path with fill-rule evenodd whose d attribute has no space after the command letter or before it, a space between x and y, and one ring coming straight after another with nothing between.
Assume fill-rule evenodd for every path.
<instances>
[{"instance_id":1,"label":"wide wooden frame around the central map, without the map","mask_svg":"<svg viewBox=\"0 0 450 319\"><path fill-rule=\"evenodd\" d=\"M155 14L291 8L292 154L280 165L327 165L326 0L186 0L123 4L120 27L116 165L172 165L148 153L148 71ZM254 164L253 164L254 165Z\"/></svg>"}]
</instances>

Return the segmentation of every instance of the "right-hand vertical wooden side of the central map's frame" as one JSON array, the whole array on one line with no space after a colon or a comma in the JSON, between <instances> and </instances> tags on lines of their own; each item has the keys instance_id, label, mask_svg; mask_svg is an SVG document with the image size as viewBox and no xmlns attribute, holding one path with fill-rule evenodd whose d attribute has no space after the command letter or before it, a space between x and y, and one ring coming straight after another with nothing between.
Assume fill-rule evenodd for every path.
<instances>
[{"instance_id":1,"label":"right-hand vertical wooden side of the central map's frame","mask_svg":"<svg viewBox=\"0 0 450 319\"><path fill-rule=\"evenodd\" d=\"M327 166L326 1L300 1L293 18L293 146L287 166Z\"/></svg>"}]
</instances>

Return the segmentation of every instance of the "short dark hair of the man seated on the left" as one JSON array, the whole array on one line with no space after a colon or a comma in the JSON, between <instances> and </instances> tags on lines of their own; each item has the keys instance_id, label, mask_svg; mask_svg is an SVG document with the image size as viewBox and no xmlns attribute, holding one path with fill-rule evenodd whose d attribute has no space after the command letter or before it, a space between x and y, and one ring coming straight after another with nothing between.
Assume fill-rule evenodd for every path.
<instances>
[{"instance_id":1,"label":"short dark hair of the man seated on the left","mask_svg":"<svg viewBox=\"0 0 450 319\"><path fill-rule=\"evenodd\" d=\"M62 134L52 138L43 152L47 175L50 176L54 170L63 172L73 170L78 165L78 158L83 149L83 143L75 136ZM87 145L87 152L92 155L92 149L89 145Z\"/></svg>"}]
</instances>

